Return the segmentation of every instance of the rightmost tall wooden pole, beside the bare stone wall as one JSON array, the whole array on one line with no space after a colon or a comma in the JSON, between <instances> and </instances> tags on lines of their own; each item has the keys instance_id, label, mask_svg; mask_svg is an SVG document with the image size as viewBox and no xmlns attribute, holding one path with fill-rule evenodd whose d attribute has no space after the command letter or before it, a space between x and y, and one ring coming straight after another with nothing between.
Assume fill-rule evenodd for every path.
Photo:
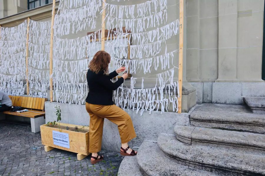
<instances>
[{"instance_id":1,"label":"rightmost tall wooden pole, beside the bare stone wall","mask_svg":"<svg viewBox=\"0 0 265 176\"><path fill-rule=\"evenodd\" d=\"M181 100L182 100L182 78L183 78L183 32L184 32L184 21L183 14L184 12L184 3L183 0L179 0L179 57L178 57L178 89L179 89L179 98L178 98L178 113L181 113Z\"/></svg>"}]
</instances>

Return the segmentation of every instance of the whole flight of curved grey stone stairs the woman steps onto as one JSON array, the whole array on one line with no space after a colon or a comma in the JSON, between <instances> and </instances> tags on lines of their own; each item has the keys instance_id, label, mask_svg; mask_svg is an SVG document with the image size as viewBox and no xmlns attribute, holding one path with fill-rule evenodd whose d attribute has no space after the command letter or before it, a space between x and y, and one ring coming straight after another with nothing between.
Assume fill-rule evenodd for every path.
<instances>
[{"instance_id":1,"label":"whole flight of curved grey stone stairs the woman steps onto","mask_svg":"<svg viewBox=\"0 0 265 176\"><path fill-rule=\"evenodd\" d=\"M265 175L265 115L244 106L197 105L191 125L145 140L119 176Z\"/></svg>"}]
</instances>

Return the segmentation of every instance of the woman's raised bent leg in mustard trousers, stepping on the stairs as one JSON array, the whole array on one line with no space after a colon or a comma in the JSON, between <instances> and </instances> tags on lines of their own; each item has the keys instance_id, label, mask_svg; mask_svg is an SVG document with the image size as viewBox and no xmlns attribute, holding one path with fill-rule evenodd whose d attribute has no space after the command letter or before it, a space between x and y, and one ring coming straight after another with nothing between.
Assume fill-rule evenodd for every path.
<instances>
[{"instance_id":1,"label":"woman's raised bent leg in mustard trousers, stepping on the stairs","mask_svg":"<svg viewBox=\"0 0 265 176\"><path fill-rule=\"evenodd\" d=\"M128 147L128 142L136 137L130 115L116 105L100 106L91 105L93 112L100 117L107 118L111 122L118 125L122 148ZM128 153L131 152L131 149Z\"/></svg>"}]
</instances>

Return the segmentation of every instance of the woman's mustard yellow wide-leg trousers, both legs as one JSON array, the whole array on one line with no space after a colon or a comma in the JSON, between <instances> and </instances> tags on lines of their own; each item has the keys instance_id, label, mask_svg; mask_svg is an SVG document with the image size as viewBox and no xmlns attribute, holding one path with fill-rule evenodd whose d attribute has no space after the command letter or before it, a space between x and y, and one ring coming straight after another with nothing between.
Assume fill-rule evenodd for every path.
<instances>
[{"instance_id":1,"label":"woman's mustard yellow wide-leg trousers, both legs","mask_svg":"<svg viewBox=\"0 0 265 176\"><path fill-rule=\"evenodd\" d=\"M118 125L121 143L127 143L136 137L130 115L116 105L93 105L86 103L90 116L89 152L101 150L104 118Z\"/></svg>"}]
</instances>

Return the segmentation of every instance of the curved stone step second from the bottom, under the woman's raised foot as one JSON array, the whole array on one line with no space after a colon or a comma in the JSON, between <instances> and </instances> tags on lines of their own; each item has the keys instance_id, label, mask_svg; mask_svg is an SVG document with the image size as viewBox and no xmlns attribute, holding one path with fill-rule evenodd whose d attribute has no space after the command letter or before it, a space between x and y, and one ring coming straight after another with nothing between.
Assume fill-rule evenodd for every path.
<instances>
[{"instance_id":1,"label":"curved stone step second from the bottom, under the woman's raised foot","mask_svg":"<svg viewBox=\"0 0 265 176\"><path fill-rule=\"evenodd\" d=\"M137 162L143 175L147 176L214 176L213 172L192 167L163 153L157 143L145 140L139 150ZM132 174L133 175L133 174Z\"/></svg>"}]
</instances>

